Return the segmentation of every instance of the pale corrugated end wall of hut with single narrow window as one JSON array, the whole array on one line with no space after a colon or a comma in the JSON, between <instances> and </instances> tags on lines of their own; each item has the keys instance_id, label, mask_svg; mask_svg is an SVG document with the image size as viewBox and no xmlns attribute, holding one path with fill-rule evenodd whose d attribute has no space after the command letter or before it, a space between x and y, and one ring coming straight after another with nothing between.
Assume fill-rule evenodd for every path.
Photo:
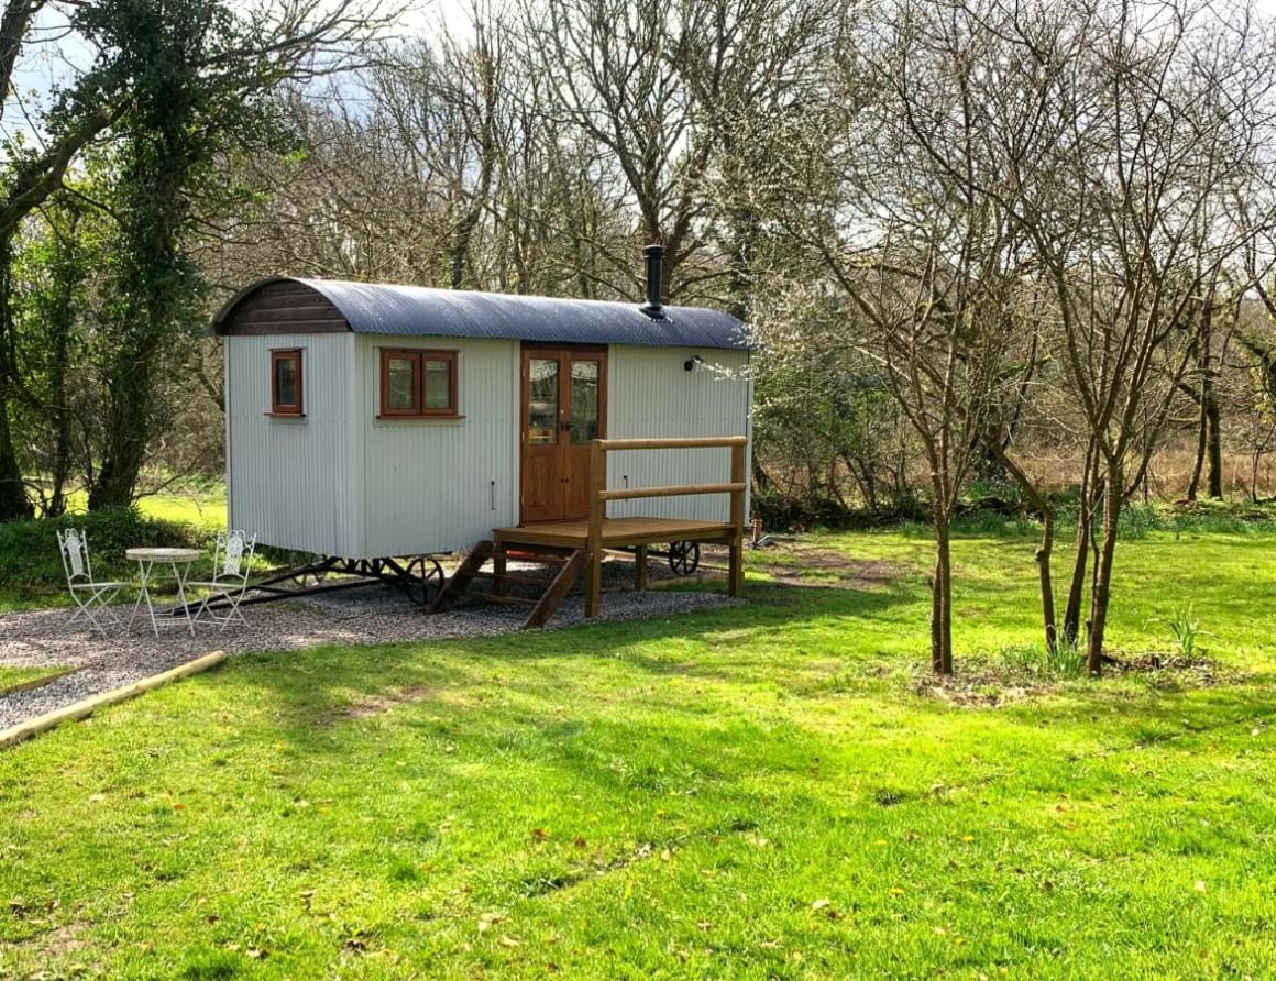
<instances>
[{"instance_id":1,"label":"pale corrugated end wall of hut with single narrow window","mask_svg":"<svg viewBox=\"0 0 1276 981\"><path fill-rule=\"evenodd\" d=\"M304 418L272 418L271 348L302 350ZM351 466L353 334L227 338L230 523L281 549L356 555L362 533Z\"/></svg>"}]
</instances>

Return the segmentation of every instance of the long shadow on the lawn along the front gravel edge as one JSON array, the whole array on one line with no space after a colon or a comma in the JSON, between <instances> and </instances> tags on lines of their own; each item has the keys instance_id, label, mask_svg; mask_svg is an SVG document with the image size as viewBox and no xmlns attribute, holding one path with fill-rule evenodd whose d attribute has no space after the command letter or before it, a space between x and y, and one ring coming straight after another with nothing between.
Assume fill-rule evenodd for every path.
<instances>
[{"instance_id":1,"label":"long shadow on the lawn along the front gravel edge","mask_svg":"<svg viewBox=\"0 0 1276 981\"><path fill-rule=\"evenodd\" d=\"M625 691L630 705L643 698L633 691L643 677L783 684L782 675L804 670L809 658L785 663L781 658L789 652L777 652L768 638L782 637L795 621L810 626L851 617L886 619L893 607L917 598L906 589L860 592L768 583L750 583L746 596L743 606L560 630L250 654L237 658L216 682L245 688L254 703L274 707L279 735L296 746L339 751L332 730L348 722L375 723L378 703L388 711L403 702L430 700L458 718L471 705L486 717L494 699L551 703L569 697L582 670ZM607 697L605 690L597 694ZM676 711L660 697L652 700L662 711ZM699 714L694 705L685 711ZM535 708L527 711L528 717L535 714Z\"/></svg>"}]
</instances>

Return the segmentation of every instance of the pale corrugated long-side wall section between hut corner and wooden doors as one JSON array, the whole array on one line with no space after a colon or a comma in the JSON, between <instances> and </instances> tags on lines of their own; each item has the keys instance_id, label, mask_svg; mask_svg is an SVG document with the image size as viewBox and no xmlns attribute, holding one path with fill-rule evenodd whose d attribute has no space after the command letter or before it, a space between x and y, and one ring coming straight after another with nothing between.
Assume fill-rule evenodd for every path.
<instances>
[{"instance_id":1,"label":"pale corrugated long-side wall section between hut corner and wooden doors","mask_svg":"<svg viewBox=\"0 0 1276 981\"><path fill-rule=\"evenodd\" d=\"M467 549L518 523L519 344L357 338L364 557ZM382 347L458 351L458 420L379 420Z\"/></svg>"}]
</instances>

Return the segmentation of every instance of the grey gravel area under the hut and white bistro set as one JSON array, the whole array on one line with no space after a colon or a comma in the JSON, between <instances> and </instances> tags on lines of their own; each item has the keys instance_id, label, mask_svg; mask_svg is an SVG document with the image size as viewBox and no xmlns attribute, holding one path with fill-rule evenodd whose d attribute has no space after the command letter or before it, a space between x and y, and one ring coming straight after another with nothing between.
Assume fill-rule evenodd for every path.
<instances>
[{"instance_id":1,"label":"grey gravel area under the hut and white bistro set","mask_svg":"<svg viewBox=\"0 0 1276 981\"><path fill-rule=\"evenodd\" d=\"M607 566L620 564L607 563ZM606 566L605 566L606 568ZM625 563L607 569L609 580L632 577ZM671 616L690 610L739 603L718 593L652 591L615 592L602 600L600 620ZM128 620L129 607L120 607ZM191 637L184 629L161 629L154 637L149 623L138 617L128 634L101 637L66 628L68 610L0 616L0 665L10 667L84 667L66 677L28 691L0 695L0 730L69 705L100 691L138 681L193 661L211 651L231 654L250 651L302 651L320 644L376 644L397 640L433 640L514 633L527 616L523 607L463 606L426 615L384 586L347 589L299 600L244 607L248 625L218 633L203 626ZM549 629L582 620L581 597L568 598ZM184 623L182 623L184 625Z\"/></svg>"}]
</instances>

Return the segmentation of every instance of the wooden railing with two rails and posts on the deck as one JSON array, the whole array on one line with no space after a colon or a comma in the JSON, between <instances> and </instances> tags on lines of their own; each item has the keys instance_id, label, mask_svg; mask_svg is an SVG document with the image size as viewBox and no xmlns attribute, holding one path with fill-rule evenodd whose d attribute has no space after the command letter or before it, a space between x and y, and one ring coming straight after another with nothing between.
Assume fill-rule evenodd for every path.
<instances>
[{"instance_id":1,"label":"wooden railing with two rails and posts on the deck","mask_svg":"<svg viewBox=\"0 0 1276 981\"><path fill-rule=\"evenodd\" d=\"M749 490L745 436L697 436L692 439L596 439L590 444L590 573L584 615L597 616L602 594L602 522L607 501L646 498L683 498L695 494L730 494L730 575L727 588L739 596L744 587L744 495ZM730 449L731 473L726 483L675 483L666 487L607 489L607 453L641 449ZM639 582L646 579L647 546L638 546Z\"/></svg>"}]
</instances>

